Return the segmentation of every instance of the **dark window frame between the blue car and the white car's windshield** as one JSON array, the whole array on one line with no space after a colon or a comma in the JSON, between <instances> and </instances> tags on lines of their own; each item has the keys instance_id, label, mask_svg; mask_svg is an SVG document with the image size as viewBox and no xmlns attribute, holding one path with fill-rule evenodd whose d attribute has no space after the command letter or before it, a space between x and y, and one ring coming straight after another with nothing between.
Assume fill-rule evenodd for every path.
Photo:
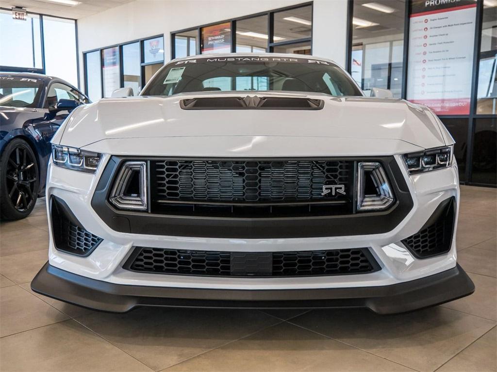
<instances>
[{"instance_id":1,"label":"dark window frame between the blue car and the white car's windshield","mask_svg":"<svg viewBox=\"0 0 497 372\"><path fill-rule=\"evenodd\" d=\"M145 51L144 51L144 45L145 42L151 39L157 39L157 38L163 38L164 39L164 34L158 34L154 36L147 36L145 38L141 39L135 39L135 40L130 40L126 41L124 43L119 43L119 44L113 44L113 45L108 45L100 48L95 48L91 50L87 50L83 52L83 72L84 72L84 93L87 95L88 92L88 70L86 66L86 55L88 53L93 53L93 52L98 52L100 56L100 94L103 98L103 92L104 92L104 86L103 86L103 60L102 60L102 51L104 49L109 49L109 48L118 48L119 51L119 84L122 87L124 84L124 69L123 69L123 46L128 45L128 44L135 44L135 43L140 43L140 83L142 88L145 86L145 67L148 65L157 65L162 63L164 65L165 63L165 58L159 61L153 61L153 62L145 62Z\"/></svg>"}]
</instances>

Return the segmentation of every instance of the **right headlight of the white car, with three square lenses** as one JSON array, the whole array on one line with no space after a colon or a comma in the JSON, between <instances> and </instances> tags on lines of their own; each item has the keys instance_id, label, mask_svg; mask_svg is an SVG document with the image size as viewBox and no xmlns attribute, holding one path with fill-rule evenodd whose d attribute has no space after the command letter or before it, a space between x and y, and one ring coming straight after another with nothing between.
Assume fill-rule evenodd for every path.
<instances>
[{"instance_id":1,"label":"right headlight of the white car, with three square lenses","mask_svg":"<svg viewBox=\"0 0 497 372\"><path fill-rule=\"evenodd\" d=\"M447 146L411 152L404 155L404 161L410 174L447 168L452 164L453 149L454 146Z\"/></svg>"}]
</instances>

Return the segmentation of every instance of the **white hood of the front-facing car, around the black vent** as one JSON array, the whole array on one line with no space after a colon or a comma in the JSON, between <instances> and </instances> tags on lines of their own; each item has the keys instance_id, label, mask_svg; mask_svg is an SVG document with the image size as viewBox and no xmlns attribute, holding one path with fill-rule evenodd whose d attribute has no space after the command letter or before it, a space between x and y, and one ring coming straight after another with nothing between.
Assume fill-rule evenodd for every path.
<instances>
[{"instance_id":1,"label":"white hood of the front-facing car, around the black vent","mask_svg":"<svg viewBox=\"0 0 497 372\"><path fill-rule=\"evenodd\" d=\"M76 109L52 142L83 147L111 139L239 136L400 140L421 148L447 142L438 119L427 108L400 99L258 92L259 97L321 99L324 106L317 110L185 110L180 106L183 99L244 94L247 92L101 99Z\"/></svg>"}]
</instances>

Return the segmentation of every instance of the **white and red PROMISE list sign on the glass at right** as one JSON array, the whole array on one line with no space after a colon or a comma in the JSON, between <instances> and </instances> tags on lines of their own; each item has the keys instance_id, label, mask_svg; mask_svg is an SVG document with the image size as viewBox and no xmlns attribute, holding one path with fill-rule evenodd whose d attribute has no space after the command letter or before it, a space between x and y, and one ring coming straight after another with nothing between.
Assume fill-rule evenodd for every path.
<instances>
[{"instance_id":1,"label":"white and red PROMISE list sign on the glass at right","mask_svg":"<svg viewBox=\"0 0 497 372\"><path fill-rule=\"evenodd\" d=\"M407 99L437 115L468 115L476 1L414 0Z\"/></svg>"}]
</instances>

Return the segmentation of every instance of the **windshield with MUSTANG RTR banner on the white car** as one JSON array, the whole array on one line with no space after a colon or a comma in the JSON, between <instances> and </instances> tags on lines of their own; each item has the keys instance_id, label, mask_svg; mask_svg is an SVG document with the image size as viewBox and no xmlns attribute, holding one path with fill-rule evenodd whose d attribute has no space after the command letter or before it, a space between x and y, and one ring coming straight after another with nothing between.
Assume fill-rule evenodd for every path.
<instances>
[{"instance_id":1,"label":"windshield with MUSTANG RTR banner on the white car","mask_svg":"<svg viewBox=\"0 0 497 372\"><path fill-rule=\"evenodd\" d=\"M331 62L255 56L172 62L153 78L142 95L244 90L362 95L352 79Z\"/></svg>"}]
</instances>

